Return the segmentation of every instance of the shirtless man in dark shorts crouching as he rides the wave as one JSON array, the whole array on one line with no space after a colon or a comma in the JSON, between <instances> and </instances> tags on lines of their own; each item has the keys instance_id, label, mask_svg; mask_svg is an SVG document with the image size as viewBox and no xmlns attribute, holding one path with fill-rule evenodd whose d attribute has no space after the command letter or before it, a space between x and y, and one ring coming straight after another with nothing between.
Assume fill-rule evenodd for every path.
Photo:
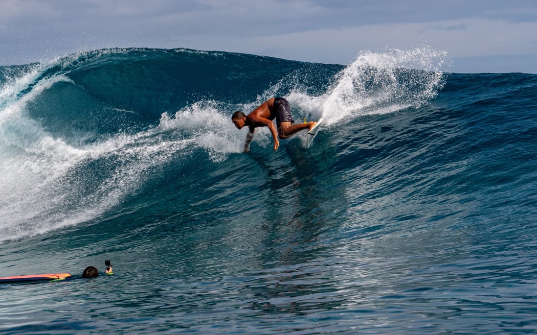
<instances>
[{"instance_id":1,"label":"shirtless man in dark shorts crouching as he rides the wave","mask_svg":"<svg viewBox=\"0 0 537 335\"><path fill-rule=\"evenodd\" d=\"M277 127L274 126L274 118L276 119ZM274 139L274 151L278 150L281 139L293 135L295 132L308 129L310 130L317 122L311 121L306 123L293 124L295 120L291 116L291 107L289 102L284 98L272 98L262 103L261 106L252 110L250 114L245 115L238 110L231 115L231 121L238 129L243 126L248 126L248 135L246 135L246 143L244 143L244 152L250 150L250 142L252 142L253 133L257 127L269 127Z\"/></svg>"}]
</instances>

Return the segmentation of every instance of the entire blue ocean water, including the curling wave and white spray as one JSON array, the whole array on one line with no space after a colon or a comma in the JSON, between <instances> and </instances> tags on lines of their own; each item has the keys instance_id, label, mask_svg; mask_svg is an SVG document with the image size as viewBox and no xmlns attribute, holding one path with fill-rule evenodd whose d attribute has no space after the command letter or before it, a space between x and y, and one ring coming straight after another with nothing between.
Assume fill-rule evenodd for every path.
<instances>
[{"instance_id":1,"label":"entire blue ocean water, including the curling wave and white spray","mask_svg":"<svg viewBox=\"0 0 537 335\"><path fill-rule=\"evenodd\" d=\"M427 47L0 67L2 334L537 332L537 76ZM231 123L273 96L296 122ZM111 259L112 276L104 275Z\"/></svg>"}]
</instances>

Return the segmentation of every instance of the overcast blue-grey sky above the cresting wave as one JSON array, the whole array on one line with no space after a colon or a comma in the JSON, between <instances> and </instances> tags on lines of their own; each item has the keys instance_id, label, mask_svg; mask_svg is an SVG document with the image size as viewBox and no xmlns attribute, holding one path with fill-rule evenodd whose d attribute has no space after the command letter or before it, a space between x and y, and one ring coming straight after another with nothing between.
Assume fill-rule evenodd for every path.
<instances>
[{"instance_id":1,"label":"overcast blue-grey sky above the cresting wave","mask_svg":"<svg viewBox=\"0 0 537 335\"><path fill-rule=\"evenodd\" d=\"M115 47L345 65L423 46L449 72L537 73L537 0L0 0L0 65Z\"/></svg>"}]
</instances>

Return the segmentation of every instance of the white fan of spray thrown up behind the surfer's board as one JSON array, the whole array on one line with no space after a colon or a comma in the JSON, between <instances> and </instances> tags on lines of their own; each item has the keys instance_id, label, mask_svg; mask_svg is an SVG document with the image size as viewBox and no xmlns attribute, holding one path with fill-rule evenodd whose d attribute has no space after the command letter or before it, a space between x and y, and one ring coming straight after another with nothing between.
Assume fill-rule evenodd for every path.
<instances>
[{"instance_id":1,"label":"white fan of spray thrown up behind the surfer's board","mask_svg":"<svg viewBox=\"0 0 537 335\"><path fill-rule=\"evenodd\" d=\"M365 51L339 73L335 83L320 96L300 91L289 93L293 106L306 111L311 120L324 118L324 126L349 122L355 117L386 114L409 107L422 106L436 96L442 86L446 63L445 51L430 48L389 50L384 53ZM402 84L400 69L408 71Z\"/></svg>"}]
</instances>

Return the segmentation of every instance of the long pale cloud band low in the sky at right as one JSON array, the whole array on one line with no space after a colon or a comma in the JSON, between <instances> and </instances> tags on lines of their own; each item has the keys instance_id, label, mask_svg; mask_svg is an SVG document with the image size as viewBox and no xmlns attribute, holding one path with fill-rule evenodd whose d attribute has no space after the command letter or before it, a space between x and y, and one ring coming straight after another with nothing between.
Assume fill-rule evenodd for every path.
<instances>
[{"instance_id":1,"label":"long pale cloud band low in the sky at right","mask_svg":"<svg viewBox=\"0 0 537 335\"><path fill-rule=\"evenodd\" d=\"M537 22L468 18L258 36L235 41L235 47L249 53L332 63L350 63L360 50L408 49L421 44L448 50L450 57L537 54L535 31ZM212 44L217 49L226 47L217 41Z\"/></svg>"}]
</instances>

